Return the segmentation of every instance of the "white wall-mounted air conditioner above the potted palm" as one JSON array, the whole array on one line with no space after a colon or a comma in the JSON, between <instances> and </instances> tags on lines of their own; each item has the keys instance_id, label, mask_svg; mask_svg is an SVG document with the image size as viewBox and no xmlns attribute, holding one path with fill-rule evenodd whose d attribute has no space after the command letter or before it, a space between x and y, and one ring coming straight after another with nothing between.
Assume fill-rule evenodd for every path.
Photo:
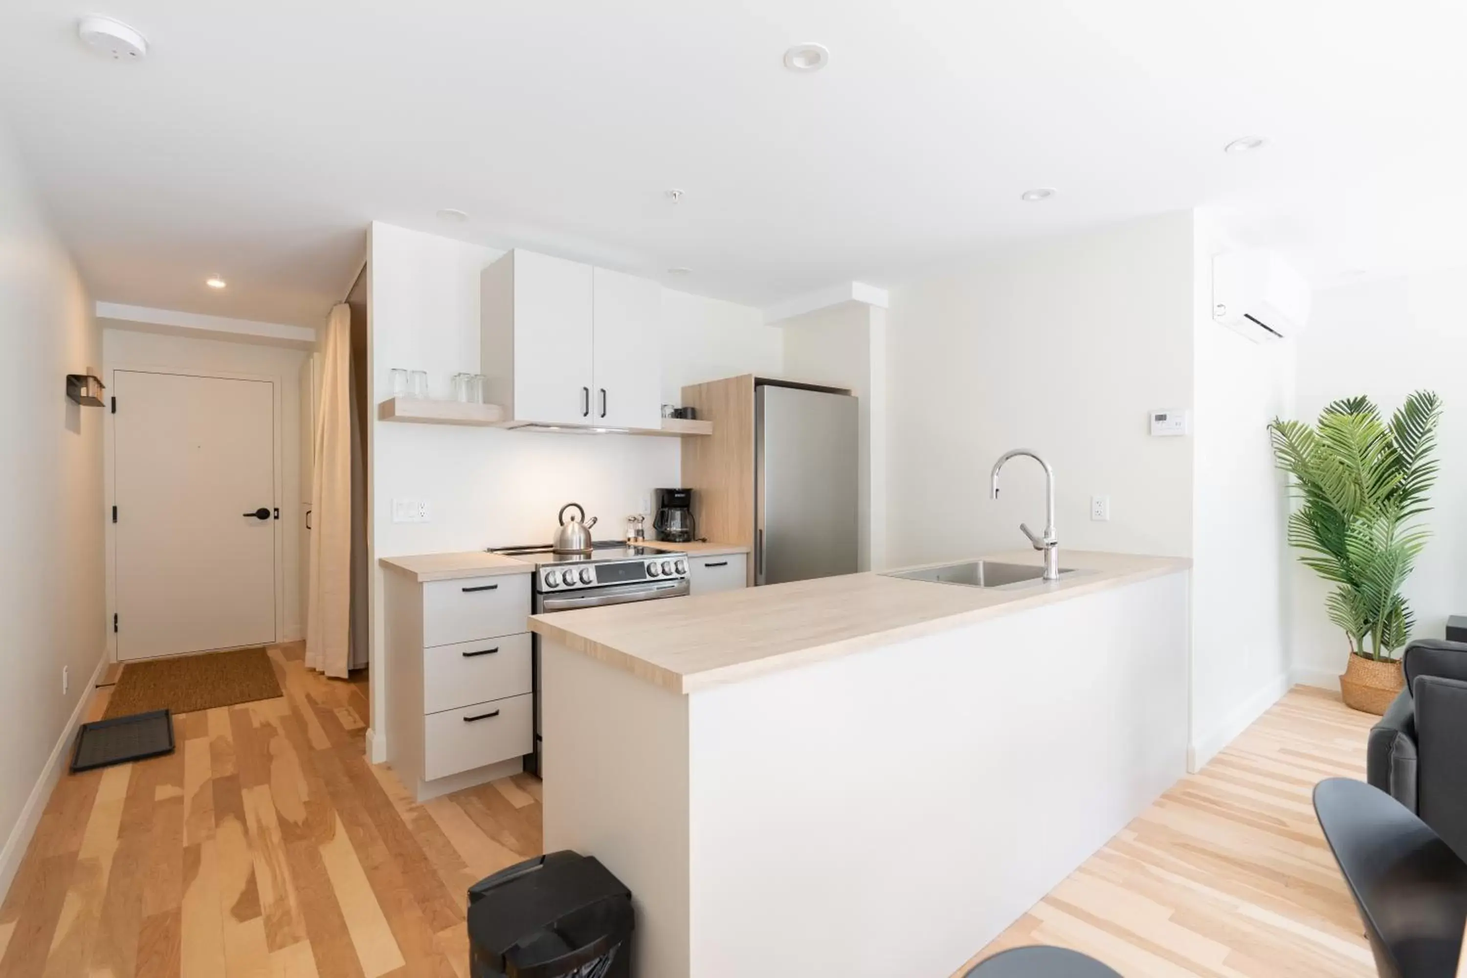
<instances>
[{"instance_id":1,"label":"white wall-mounted air conditioner above the potted palm","mask_svg":"<svg viewBox=\"0 0 1467 978\"><path fill-rule=\"evenodd\" d=\"M1309 282L1270 251L1212 260L1212 318L1254 343L1303 333L1310 298Z\"/></svg>"}]
</instances>

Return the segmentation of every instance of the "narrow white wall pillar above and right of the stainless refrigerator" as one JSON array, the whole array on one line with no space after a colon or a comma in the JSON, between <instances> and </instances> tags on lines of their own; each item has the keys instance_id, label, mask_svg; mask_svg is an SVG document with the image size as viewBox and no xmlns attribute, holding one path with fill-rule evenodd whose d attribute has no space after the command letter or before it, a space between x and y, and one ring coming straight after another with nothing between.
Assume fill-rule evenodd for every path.
<instances>
[{"instance_id":1,"label":"narrow white wall pillar above and right of the stainless refrigerator","mask_svg":"<svg viewBox=\"0 0 1467 978\"><path fill-rule=\"evenodd\" d=\"M860 400L861 529L857 565L886 567L886 309L864 302L808 312L780 324L785 377L848 387Z\"/></svg>"}]
</instances>

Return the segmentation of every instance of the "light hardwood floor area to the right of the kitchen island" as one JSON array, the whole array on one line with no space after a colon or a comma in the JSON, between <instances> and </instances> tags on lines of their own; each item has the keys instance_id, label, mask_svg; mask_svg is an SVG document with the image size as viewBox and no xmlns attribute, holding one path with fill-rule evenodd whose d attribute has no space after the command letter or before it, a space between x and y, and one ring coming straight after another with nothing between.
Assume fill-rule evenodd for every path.
<instances>
[{"instance_id":1,"label":"light hardwood floor area to the right of the kitchen island","mask_svg":"<svg viewBox=\"0 0 1467 978\"><path fill-rule=\"evenodd\" d=\"M1061 944L1141 975L1375 975L1310 792L1375 717L1295 688L974 956ZM961 974L961 972L958 972Z\"/></svg>"}]
</instances>

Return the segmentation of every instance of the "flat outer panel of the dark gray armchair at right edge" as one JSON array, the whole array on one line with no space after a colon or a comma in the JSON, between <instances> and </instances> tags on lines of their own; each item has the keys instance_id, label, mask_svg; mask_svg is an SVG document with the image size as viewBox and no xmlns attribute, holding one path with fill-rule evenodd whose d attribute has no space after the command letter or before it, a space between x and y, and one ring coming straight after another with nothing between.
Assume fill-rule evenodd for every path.
<instances>
[{"instance_id":1,"label":"flat outer panel of the dark gray armchair at right edge","mask_svg":"<svg viewBox=\"0 0 1467 978\"><path fill-rule=\"evenodd\" d=\"M1467 682L1417 676L1416 743L1420 757L1417 814L1467 856Z\"/></svg>"}]
</instances>

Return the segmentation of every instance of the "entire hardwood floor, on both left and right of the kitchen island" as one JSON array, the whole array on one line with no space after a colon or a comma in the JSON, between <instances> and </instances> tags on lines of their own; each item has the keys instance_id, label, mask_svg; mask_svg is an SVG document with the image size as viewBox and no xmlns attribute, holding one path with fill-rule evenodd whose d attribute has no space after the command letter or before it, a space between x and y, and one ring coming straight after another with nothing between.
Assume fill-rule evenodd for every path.
<instances>
[{"instance_id":1,"label":"entire hardwood floor, on both left and right of the kitchen island","mask_svg":"<svg viewBox=\"0 0 1467 978\"><path fill-rule=\"evenodd\" d=\"M0 978L468 978L465 889L540 852L540 783L412 804L362 757L365 691L270 655L283 698L62 779L0 906ZM1295 689L974 962L1047 943L1130 978L1373 974L1309 801L1363 777L1370 723Z\"/></svg>"}]
</instances>

